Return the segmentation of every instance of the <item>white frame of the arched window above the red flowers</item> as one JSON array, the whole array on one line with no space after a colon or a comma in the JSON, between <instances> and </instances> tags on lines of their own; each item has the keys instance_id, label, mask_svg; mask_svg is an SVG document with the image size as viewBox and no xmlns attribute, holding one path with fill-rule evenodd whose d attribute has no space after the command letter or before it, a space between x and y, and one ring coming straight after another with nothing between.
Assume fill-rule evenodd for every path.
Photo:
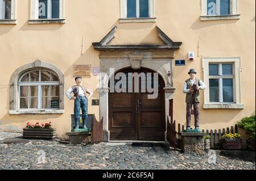
<instances>
[{"instance_id":1,"label":"white frame of the arched window above the red flowers","mask_svg":"<svg viewBox=\"0 0 256 181\"><path fill-rule=\"evenodd\" d=\"M39 82L20 82L22 80L22 78L28 74L31 73L33 71L39 71ZM45 69L34 69L31 71L27 71L26 73L24 73L22 76L20 76L19 81L18 81L18 110L40 110L42 109L42 86L55 86L55 85L60 85L59 81L48 81L48 82L41 82L41 71L49 71L49 70L45 70ZM53 73L53 71L49 71L50 73L56 75L55 73ZM56 75L57 76L57 75ZM29 77L28 77L29 78ZM29 80L28 80L29 81ZM30 108L30 101L28 100L28 108L20 108L20 86L38 86L38 108ZM29 94L29 89L28 89L28 94ZM60 93L60 92L59 92ZM50 91L50 95L51 96L51 91ZM59 95L60 96L60 95ZM28 96L29 98L31 96ZM57 96L56 96L57 97ZM43 109L47 109L47 110L59 110L59 108L43 108Z\"/></svg>"}]
</instances>

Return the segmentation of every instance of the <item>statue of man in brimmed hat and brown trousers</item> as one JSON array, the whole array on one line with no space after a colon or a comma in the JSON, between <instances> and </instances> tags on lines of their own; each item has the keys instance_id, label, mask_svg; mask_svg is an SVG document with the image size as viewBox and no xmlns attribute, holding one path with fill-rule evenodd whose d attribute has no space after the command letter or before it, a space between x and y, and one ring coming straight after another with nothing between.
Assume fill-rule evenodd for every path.
<instances>
[{"instance_id":1,"label":"statue of man in brimmed hat and brown trousers","mask_svg":"<svg viewBox=\"0 0 256 181\"><path fill-rule=\"evenodd\" d=\"M191 120L191 110L192 105L194 108L195 115L195 129L196 131L200 131L199 129L199 103L200 103L200 89L206 89L207 87L204 85L204 82L200 79L195 78L196 71L194 69L190 69L189 79L187 79L183 84L183 92L186 94L186 103L187 103L187 130L191 129L190 120Z\"/></svg>"}]
</instances>

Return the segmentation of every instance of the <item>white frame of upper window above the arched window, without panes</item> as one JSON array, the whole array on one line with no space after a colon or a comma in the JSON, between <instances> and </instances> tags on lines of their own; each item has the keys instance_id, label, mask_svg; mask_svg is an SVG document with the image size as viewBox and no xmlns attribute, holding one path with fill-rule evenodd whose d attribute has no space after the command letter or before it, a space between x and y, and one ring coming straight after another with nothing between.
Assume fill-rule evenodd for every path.
<instances>
[{"instance_id":1,"label":"white frame of upper window above the arched window, without panes","mask_svg":"<svg viewBox=\"0 0 256 181\"><path fill-rule=\"evenodd\" d=\"M60 0L60 16L57 19L64 19L64 5L65 4L65 0ZM47 19L39 19L39 0L31 0L30 3L30 19L31 20L48 20L48 19L52 19L51 18L51 0L47 0Z\"/></svg>"}]
</instances>

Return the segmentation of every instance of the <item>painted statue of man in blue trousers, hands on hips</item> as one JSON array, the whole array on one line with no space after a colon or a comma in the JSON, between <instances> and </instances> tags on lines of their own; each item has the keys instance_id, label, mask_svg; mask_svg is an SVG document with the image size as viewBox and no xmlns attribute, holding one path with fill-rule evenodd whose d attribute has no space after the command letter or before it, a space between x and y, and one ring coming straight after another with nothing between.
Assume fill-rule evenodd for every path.
<instances>
[{"instance_id":1,"label":"painted statue of man in blue trousers, hands on hips","mask_svg":"<svg viewBox=\"0 0 256 181\"><path fill-rule=\"evenodd\" d=\"M73 131L80 131L79 130L79 121L80 121L80 108L82 110L82 128L86 128L86 122L88 117L88 100L93 95L93 92L85 87L82 87L82 77L77 76L75 77L76 86L70 87L65 94L67 95L68 99L73 99L74 101L74 116L75 116L75 129ZM71 95L73 92L74 96ZM89 96L86 96L86 93Z\"/></svg>"}]
</instances>

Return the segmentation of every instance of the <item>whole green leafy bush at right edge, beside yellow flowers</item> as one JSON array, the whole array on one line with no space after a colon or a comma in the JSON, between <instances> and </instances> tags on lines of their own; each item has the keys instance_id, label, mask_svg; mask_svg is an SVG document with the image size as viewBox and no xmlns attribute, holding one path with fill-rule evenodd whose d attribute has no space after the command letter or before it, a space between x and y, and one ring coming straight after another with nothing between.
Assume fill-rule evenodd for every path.
<instances>
[{"instance_id":1,"label":"whole green leafy bush at right edge, beside yellow flowers","mask_svg":"<svg viewBox=\"0 0 256 181\"><path fill-rule=\"evenodd\" d=\"M255 115L244 117L241 121L238 121L237 125L246 131L248 136L246 140L247 149L255 151Z\"/></svg>"}]
</instances>

